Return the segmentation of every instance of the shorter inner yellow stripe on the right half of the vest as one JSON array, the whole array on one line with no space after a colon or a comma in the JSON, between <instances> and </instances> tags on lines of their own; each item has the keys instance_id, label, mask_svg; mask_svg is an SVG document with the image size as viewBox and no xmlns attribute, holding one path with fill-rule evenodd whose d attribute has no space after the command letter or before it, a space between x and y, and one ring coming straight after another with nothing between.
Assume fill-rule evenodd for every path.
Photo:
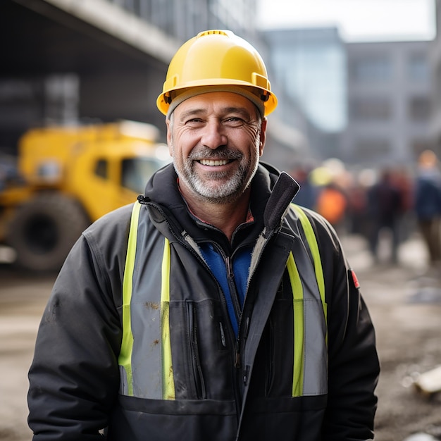
<instances>
[{"instance_id":1,"label":"shorter inner yellow stripe on the right half of the vest","mask_svg":"<svg viewBox=\"0 0 441 441\"><path fill-rule=\"evenodd\" d=\"M292 252L288 257L287 269L292 286L292 309L294 312L294 368L292 373L292 396L301 397L303 395L304 378L304 302L302 282Z\"/></svg>"}]
</instances>

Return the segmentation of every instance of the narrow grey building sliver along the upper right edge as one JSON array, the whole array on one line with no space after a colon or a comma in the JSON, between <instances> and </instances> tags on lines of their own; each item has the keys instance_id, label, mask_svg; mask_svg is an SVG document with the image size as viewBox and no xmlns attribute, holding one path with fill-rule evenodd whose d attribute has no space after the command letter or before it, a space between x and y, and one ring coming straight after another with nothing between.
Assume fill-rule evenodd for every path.
<instances>
[{"instance_id":1,"label":"narrow grey building sliver along the upper right edge","mask_svg":"<svg viewBox=\"0 0 441 441\"><path fill-rule=\"evenodd\" d=\"M435 0L436 37L430 44L430 65L433 72L432 82L432 117L430 135L433 149L441 157L441 0Z\"/></svg>"}]
</instances>

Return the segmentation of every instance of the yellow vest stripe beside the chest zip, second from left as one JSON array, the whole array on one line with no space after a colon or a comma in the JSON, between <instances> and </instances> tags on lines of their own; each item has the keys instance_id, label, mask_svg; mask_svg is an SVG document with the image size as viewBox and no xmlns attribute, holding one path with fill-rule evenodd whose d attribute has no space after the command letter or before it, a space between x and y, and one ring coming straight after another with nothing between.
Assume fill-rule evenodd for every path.
<instances>
[{"instance_id":1,"label":"yellow vest stripe beside the chest zip, second from left","mask_svg":"<svg viewBox=\"0 0 441 441\"><path fill-rule=\"evenodd\" d=\"M175 399L175 381L170 342L170 242L164 240L161 283L162 385L163 399Z\"/></svg>"}]
</instances>

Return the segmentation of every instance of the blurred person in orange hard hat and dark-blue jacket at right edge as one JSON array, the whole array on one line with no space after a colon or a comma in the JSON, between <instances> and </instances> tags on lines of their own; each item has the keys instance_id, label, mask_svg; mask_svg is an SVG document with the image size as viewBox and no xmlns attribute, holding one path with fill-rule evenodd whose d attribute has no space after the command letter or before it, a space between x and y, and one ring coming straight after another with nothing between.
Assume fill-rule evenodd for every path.
<instances>
[{"instance_id":1,"label":"blurred person in orange hard hat and dark-blue jacket at right edge","mask_svg":"<svg viewBox=\"0 0 441 441\"><path fill-rule=\"evenodd\" d=\"M441 271L441 174L435 153L426 150L418 158L415 213L429 257L429 270Z\"/></svg>"}]
</instances>

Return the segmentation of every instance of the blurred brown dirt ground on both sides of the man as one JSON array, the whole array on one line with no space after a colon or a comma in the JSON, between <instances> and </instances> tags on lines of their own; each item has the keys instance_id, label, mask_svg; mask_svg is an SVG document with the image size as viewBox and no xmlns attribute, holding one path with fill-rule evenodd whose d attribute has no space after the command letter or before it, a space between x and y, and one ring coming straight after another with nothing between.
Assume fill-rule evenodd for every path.
<instances>
[{"instance_id":1,"label":"blurred brown dirt ground on both sides of the man","mask_svg":"<svg viewBox=\"0 0 441 441\"><path fill-rule=\"evenodd\" d=\"M441 396L418 394L418 375L441 365L441 285L423 276L418 237L400 249L399 266L373 266L364 241L344 237L373 318L382 372L375 440L403 441L415 433L440 436ZM384 256L387 249L384 248ZM0 440L28 441L27 369L54 275L32 277L0 265Z\"/></svg>"}]
</instances>

